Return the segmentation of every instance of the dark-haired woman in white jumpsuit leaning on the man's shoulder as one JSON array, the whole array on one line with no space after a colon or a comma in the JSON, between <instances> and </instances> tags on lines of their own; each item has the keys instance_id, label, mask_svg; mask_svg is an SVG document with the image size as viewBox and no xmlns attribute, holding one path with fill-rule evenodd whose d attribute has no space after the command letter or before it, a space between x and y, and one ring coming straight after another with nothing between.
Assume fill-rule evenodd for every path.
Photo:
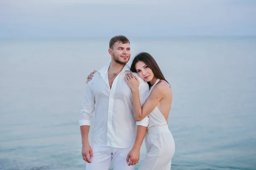
<instances>
[{"instance_id":1,"label":"dark-haired woman in white jumpsuit leaning on the man's shoulder","mask_svg":"<svg viewBox=\"0 0 256 170\"><path fill-rule=\"evenodd\" d=\"M134 58L131 71L137 72L150 87L148 99L141 107L138 89L140 82L133 74L126 74L125 81L133 93L134 118L140 121L149 117L145 136L147 154L139 170L170 170L175 153L175 142L167 125L172 105L171 86L148 53L140 53Z\"/></svg>"}]
</instances>

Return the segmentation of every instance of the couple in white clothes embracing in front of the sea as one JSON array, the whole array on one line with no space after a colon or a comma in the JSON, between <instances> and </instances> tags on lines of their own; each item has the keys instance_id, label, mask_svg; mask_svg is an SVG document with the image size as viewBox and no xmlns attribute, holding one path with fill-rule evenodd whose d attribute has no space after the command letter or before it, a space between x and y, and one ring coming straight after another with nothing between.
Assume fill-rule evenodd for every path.
<instances>
[{"instance_id":1,"label":"couple in white clothes embracing in front of the sea","mask_svg":"<svg viewBox=\"0 0 256 170\"><path fill-rule=\"evenodd\" d=\"M108 170L111 161L114 170L134 170L144 137L147 154L139 170L170 170L175 142L167 125L172 104L169 83L148 53L138 54L131 68L126 64L131 48L125 36L111 38L108 52L111 62L88 76L81 105L86 170Z\"/></svg>"}]
</instances>

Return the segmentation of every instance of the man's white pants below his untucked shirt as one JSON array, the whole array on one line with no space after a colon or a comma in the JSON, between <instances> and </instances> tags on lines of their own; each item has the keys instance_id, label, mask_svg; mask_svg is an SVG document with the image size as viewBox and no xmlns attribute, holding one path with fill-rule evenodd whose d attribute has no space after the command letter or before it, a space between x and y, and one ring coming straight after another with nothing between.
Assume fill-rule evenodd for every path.
<instances>
[{"instance_id":1,"label":"man's white pants below his untucked shirt","mask_svg":"<svg viewBox=\"0 0 256 170\"><path fill-rule=\"evenodd\" d=\"M92 146L93 159L86 163L86 170L108 170L113 161L114 170L134 170L134 166L128 166L126 158L132 147L117 148Z\"/></svg>"}]
</instances>

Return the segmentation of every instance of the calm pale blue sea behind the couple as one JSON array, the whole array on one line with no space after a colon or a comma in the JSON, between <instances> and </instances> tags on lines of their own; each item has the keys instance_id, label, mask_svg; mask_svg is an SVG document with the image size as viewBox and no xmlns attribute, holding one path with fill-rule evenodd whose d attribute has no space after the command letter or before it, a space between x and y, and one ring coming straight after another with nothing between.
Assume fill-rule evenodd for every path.
<instances>
[{"instance_id":1,"label":"calm pale blue sea behind the couple","mask_svg":"<svg viewBox=\"0 0 256 170\"><path fill-rule=\"evenodd\" d=\"M0 170L85 170L79 111L110 38L0 40ZM256 37L130 42L128 64L148 52L172 85L171 169L256 170Z\"/></svg>"}]
</instances>

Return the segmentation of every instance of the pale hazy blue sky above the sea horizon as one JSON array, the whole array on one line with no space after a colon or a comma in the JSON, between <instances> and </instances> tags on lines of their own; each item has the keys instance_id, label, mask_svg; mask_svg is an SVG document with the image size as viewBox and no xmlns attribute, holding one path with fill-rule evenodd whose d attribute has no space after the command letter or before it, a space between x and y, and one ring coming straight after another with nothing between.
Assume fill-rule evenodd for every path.
<instances>
[{"instance_id":1,"label":"pale hazy blue sky above the sea horizon","mask_svg":"<svg viewBox=\"0 0 256 170\"><path fill-rule=\"evenodd\" d=\"M0 38L256 36L256 0L0 0Z\"/></svg>"}]
</instances>

